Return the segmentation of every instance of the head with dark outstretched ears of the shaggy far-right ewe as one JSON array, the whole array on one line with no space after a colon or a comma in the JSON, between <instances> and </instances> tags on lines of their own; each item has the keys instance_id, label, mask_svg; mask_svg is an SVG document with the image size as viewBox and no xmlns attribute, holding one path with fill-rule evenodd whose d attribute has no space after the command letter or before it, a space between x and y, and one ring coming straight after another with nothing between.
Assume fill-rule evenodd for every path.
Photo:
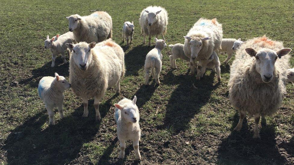
<instances>
[{"instance_id":1,"label":"head with dark outstretched ears of the shaggy far-right ewe","mask_svg":"<svg viewBox=\"0 0 294 165\"><path fill-rule=\"evenodd\" d=\"M246 48L245 51L251 56L255 57L256 71L260 74L263 82L271 82L274 75L275 63L277 58L281 58L290 53L290 48L284 48L277 52L271 49L263 48L256 52L252 48Z\"/></svg>"}]
</instances>

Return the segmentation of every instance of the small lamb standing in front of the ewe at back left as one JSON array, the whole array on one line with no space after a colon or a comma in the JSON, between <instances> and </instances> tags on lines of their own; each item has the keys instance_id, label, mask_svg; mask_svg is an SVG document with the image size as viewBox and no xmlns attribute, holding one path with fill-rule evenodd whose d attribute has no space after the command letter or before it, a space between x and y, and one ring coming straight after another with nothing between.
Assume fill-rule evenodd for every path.
<instances>
[{"instance_id":1,"label":"small lamb standing in front of the ewe at back left","mask_svg":"<svg viewBox=\"0 0 294 165\"><path fill-rule=\"evenodd\" d=\"M49 35L47 35L45 40L45 49L49 49L52 53L52 64L51 67L55 66L55 59L58 54L61 54L61 58L63 59L63 63L67 63L67 60L65 59L65 53L64 51L67 51L68 57L70 58L70 50L65 45L66 43L73 43L73 33L67 32L63 35L59 36L56 35L55 37L52 37L49 39Z\"/></svg>"}]
</instances>

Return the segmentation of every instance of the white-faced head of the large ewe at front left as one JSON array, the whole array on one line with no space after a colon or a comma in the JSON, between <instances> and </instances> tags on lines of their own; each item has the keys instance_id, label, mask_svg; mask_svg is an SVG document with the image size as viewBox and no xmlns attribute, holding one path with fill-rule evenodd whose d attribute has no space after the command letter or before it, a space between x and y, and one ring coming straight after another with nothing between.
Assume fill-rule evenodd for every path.
<instances>
[{"instance_id":1,"label":"white-faced head of the large ewe at front left","mask_svg":"<svg viewBox=\"0 0 294 165\"><path fill-rule=\"evenodd\" d=\"M91 49L94 48L95 45L96 42L91 42L90 44L86 42L80 42L78 44L66 43L66 46L71 50L71 56L74 62L81 70L88 69L92 60Z\"/></svg>"}]
</instances>

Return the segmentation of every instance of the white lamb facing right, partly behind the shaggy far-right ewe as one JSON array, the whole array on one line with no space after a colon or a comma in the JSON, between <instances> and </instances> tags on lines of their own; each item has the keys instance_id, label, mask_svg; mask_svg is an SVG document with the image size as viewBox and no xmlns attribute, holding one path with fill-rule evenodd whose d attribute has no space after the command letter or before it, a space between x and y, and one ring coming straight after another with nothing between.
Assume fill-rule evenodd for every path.
<instances>
[{"instance_id":1,"label":"white lamb facing right, partly behind the shaggy far-right ewe","mask_svg":"<svg viewBox=\"0 0 294 165\"><path fill-rule=\"evenodd\" d=\"M236 52L236 50L241 46L242 43L245 43L246 41L241 41L241 38L238 40L234 38L223 38L221 41L221 47L216 50L217 55L218 52L227 52L228 57L224 61L224 63L228 63L229 60L233 57L233 53Z\"/></svg>"}]
</instances>

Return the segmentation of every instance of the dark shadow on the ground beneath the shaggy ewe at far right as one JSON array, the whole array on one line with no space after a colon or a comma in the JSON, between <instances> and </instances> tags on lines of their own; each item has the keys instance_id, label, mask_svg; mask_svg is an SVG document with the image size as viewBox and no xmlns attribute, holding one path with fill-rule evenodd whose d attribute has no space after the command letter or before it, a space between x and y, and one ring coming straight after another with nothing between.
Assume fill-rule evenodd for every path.
<instances>
[{"instance_id":1,"label":"dark shadow on the ground beneath the shaggy ewe at far right","mask_svg":"<svg viewBox=\"0 0 294 165\"><path fill-rule=\"evenodd\" d=\"M248 118L248 115L246 116ZM249 128L246 119L243 121L240 132L233 129L239 122L239 112L232 119L232 132L222 139L217 150L217 162L219 164L268 164L269 162L253 161L256 157L262 157L271 164L285 164L287 160L283 157L276 145L275 126L266 125L260 128L261 139L253 139L253 127ZM252 123L254 125L254 123Z\"/></svg>"}]
</instances>

